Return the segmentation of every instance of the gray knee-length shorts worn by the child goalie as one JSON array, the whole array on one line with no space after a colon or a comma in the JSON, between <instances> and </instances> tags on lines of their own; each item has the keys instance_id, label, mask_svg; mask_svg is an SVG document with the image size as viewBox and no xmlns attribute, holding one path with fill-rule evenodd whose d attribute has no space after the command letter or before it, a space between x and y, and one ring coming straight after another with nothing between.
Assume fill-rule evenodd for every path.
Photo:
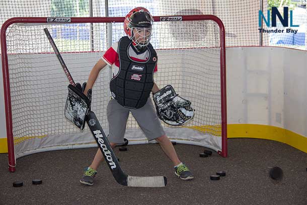
<instances>
[{"instance_id":1,"label":"gray knee-length shorts worn by the child goalie","mask_svg":"<svg viewBox=\"0 0 307 205\"><path fill-rule=\"evenodd\" d=\"M111 99L107 106L109 122L108 140L110 143L124 143L124 134L129 112L132 113L138 125L145 133L148 141L159 138L165 134L150 98L148 98L143 107L138 109L123 107L116 100Z\"/></svg>"}]
</instances>

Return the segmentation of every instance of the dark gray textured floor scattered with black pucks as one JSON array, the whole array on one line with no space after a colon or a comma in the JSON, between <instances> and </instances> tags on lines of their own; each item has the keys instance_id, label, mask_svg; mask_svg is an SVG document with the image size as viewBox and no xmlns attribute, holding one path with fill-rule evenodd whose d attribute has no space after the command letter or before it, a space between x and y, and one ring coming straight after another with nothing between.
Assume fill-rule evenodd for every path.
<instances>
[{"instance_id":1,"label":"dark gray textured floor scattered with black pucks","mask_svg":"<svg viewBox=\"0 0 307 205\"><path fill-rule=\"evenodd\" d=\"M164 188L124 187L116 183L105 163L93 186L79 182L97 148L52 151L17 160L17 171L7 169L7 154L0 154L0 204L307 204L307 154L288 145L258 139L229 139L228 157L217 153L200 158L205 148L177 144L180 159L195 175L178 179L172 163L158 144L115 149L123 170L131 176L168 177ZM269 177L271 167L283 170L282 180ZM216 171L226 176L209 179ZM42 179L33 185L32 179ZM22 187L13 187L17 180Z\"/></svg>"}]
</instances>

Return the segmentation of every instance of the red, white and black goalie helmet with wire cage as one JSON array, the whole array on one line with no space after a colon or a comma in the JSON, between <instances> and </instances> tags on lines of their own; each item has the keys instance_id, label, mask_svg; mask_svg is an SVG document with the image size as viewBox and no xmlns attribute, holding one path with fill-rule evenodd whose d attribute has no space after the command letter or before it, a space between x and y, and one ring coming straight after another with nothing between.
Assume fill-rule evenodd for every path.
<instances>
[{"instance_id":1,"label":"red, white and black goalie helmet with wire cage","mask_svg":"<svg viewBox=\"0 0 307 205\"><path fill-rule=\"evenodd\" d=\"M143 7L132 9L125 17L124 30L134 46L145 47L149 44L153 18Z\"/></svg>"}]
</instances>

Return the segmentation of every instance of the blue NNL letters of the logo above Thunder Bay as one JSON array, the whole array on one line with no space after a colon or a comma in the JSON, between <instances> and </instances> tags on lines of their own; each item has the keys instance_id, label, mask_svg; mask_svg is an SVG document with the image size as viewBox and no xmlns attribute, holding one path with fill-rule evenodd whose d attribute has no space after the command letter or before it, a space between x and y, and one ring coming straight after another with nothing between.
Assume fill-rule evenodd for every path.
<instances>
[{"instance_id":1,"label":"blue NNL letters of the logo above Thunder Bay","mask_svg":"<svg viewBox=\"0 0 307 205\"><path fill-rule=\"evenodd\" d=\"M284 26L284 27L288 27L289 26L289 21L288 21L288 17L289 17L289 8L288 7L284 7L283 8L283 18L281 16L281 14L279 13L277 7L272 7L272 27L276 27L276 16L278 17L280 23ZM263 13L261 10L259 10L259 15L258 15L258 20L259 20L259 27L261 27L262 25L262 19L264 20L265 24L267 25L267 27L270 27L270 10L268 10L268 15L267 15L267 19L264 17ZM290 10L290 27L299 27L299 25L293 25L293 11Z\"/></svg>"}]
</instances>

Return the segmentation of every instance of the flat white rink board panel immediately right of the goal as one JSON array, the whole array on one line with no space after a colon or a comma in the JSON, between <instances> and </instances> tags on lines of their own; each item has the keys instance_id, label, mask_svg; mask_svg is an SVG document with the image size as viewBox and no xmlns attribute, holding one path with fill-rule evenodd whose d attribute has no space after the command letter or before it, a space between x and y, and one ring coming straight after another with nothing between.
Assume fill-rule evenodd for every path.
<instances>
[{"instance_id":1,"label":"flat white rink board panel immediately right of the goal","mask_svg":"<svg viewBox=\"0 0 307 205\"><path fill-rule=\"evenodd\" d=\"M284 48L227 48L228 123L283 127ZM301 51L299 51L301 52Z\"/></svg>"}]
</instances>

